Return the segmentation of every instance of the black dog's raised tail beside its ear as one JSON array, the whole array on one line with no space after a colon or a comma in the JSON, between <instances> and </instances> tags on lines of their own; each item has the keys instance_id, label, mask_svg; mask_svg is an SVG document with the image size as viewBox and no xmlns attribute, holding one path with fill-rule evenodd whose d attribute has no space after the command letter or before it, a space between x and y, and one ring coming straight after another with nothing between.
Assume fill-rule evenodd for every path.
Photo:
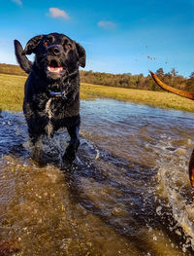
<instances>
[{"instance_id":1,"label":"black dog's raised tail beside its ear","mask_svg":"<svg viewBox=\"0 0 194 256\"><path fill-rule=\"evenodd\" d=\"M23 48L21 44L15 40L15 54L16 61L19 66L25 71L25 73L29 74L32 67L32 62L23 54Z\"/></svg>"}]
</instances>

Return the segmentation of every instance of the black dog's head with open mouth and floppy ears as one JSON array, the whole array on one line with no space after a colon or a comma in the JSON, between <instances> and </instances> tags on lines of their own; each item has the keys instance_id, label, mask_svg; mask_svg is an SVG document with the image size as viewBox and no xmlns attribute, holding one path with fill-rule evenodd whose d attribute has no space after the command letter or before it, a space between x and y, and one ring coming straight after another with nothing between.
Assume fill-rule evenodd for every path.
<instances>
[{"instance_id":1,"label":"black dog's head with open mouth and floppy ears","mask_svg":"<svg viewBox=\"0 0 194 256\"><path fill-rule=\"evenodd\" d=\"M35 54L35 65L47 78L57 80L85 66L85 51L66 35L50 33L30 39L23 55Z\"/></svg>"}]
</instances>

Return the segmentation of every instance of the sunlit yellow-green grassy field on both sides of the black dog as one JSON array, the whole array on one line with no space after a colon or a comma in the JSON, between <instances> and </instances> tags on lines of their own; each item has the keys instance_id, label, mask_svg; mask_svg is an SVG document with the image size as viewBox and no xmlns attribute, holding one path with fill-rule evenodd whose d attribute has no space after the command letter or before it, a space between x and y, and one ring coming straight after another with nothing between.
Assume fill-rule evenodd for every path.
<instances>
[{"instance_id":1,"label":"sunlit yellow-green grassy field on both sides of the black dog","mask_svg":"<svg viewBox=\"0 0 194 256\"><path fill-rule=\"evenodd\" d=\"M0 109L21 110L26 77L0 74ZM194 113L194 101L169 92L142 91L81 84L81 99L114 98Z\"/></svg>"}]
</instances>

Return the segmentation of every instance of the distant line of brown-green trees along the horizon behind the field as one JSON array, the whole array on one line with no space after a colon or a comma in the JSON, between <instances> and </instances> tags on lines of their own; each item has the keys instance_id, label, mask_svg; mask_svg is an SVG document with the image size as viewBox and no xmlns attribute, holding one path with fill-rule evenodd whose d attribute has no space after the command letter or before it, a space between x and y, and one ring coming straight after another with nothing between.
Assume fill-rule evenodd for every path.
<instances>
[{"instance_id":1,"label":"distant line of brown-green trees along the horizon behind the field","mask_svg":"<svg viewBox=\"0 0 194 256\"><path fill-rule=\"evenodd\" d=\"M19 66L11 64L0 64L0 73L26 76L25 72ZM194 72L191 73L188 79L184 78L181 75L178 75L178 71L175 68L173 68L168 73L164 73L163 68L159 68L155 71L155 74L162 80L163 83L166 83L169 86L184 91L194 92ZM145 77L143 74L109 74L93 72L91 70L81 70L81 83L102 85L107 87L120 87L148 91L162 91L155 84L150 75Z\"/></svg>"}]
</instances>

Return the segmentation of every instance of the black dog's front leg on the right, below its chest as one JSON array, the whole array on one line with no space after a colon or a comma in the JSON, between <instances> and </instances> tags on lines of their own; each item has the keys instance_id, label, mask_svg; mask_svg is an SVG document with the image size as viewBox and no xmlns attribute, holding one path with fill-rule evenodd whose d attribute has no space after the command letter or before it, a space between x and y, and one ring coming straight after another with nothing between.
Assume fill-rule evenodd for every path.
<instances>
[{"instance_id":1,"label":"black dog's front leg on the right, below its chest","mask_svg":"<svg viewBox=\"0 0 194 256\"><path fill-rule=\"evenodd\" d=\"M76 152L80 146L80 137L79 137L79 130L80 126L77 125L75 127L67 128L70 134L70 143L66 148L65 154L63 156L63 161L65 162L73 162L76 158Z\"/></svg>"}]
</instances>

